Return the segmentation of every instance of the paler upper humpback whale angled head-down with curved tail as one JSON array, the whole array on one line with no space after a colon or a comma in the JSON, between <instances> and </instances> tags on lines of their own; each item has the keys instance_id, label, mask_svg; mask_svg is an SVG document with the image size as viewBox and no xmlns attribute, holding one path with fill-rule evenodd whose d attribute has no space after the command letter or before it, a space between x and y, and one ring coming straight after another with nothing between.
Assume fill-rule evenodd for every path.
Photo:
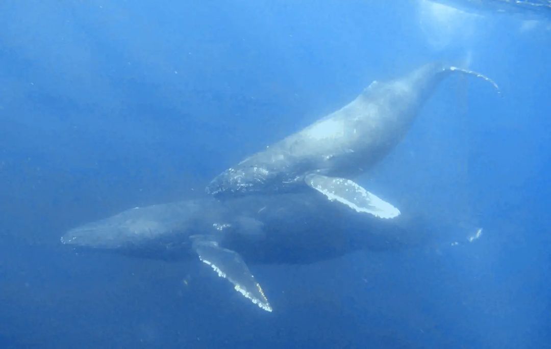
<instances>
[{"instance_id":1,"label":"paler upper humpback whale angled head-down with curved tail","mask_svg":"<svg viewBox=\"0 0 551 349\"><path fill-rule=\"evenodd\" d=\"M348 178L387 155L440 81L456 73L482 78L498 88L482 74L439 63L386 83L373 81L340 110L224 171L206 192L217 197L284 193L306 184L358 212L396 217L398 209Z\"/></svg>"}]
</instances>

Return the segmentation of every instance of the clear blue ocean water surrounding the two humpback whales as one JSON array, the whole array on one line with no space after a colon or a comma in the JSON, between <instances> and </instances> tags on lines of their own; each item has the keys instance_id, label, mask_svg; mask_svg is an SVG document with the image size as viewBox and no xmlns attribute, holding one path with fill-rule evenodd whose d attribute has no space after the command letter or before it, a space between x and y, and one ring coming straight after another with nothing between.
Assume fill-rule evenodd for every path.
<instances>
[{"instance_id":1,"label":"clear blue ocean water surrounding the two humpback whales","mask_svg":"<svg viewBox=\"0 0 551 349\"><path fill-rule=\"evenodd\" d=\"M423 1L0 4L0 347L551 347L551 20ZM69 228L214 176L431 61L450 77L358 181L473 243L250 265L80 252ZM446 235L442 231L442 235ZM285 256L282 255L282 259Z\"/></svg>"}]
</instances>

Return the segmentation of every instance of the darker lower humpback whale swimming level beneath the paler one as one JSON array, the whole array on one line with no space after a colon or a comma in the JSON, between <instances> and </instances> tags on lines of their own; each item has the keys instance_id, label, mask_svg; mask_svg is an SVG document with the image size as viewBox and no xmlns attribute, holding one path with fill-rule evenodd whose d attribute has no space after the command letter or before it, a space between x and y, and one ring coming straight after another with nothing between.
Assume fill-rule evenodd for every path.
<instances>
[{"instance_id":1,"label":"darker lower humpback whale swimming level beneath the paler one","mask_svg":"<svg viewBox=\"0 0 551 349\"><path fill-rule=\"evenodd\" d=\"M305 192L224 201L206 197L134 208L71 229L61 242L139 257L195 256L271 312L245 261L311 263L358 249L412 246L431 236L414 228L420 220L380 220L318 196Z\"/></svg>"}]
</instances>

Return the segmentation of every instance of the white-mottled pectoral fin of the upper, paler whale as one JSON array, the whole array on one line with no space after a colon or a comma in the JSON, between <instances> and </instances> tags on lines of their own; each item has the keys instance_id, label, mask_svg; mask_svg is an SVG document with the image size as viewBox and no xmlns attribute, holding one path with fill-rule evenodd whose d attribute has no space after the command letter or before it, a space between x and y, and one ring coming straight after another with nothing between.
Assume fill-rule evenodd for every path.
<instances>
[{"instance_id":1,"label":"white-mottled pectoral fin of the upper, paler whale","mask_svg":"<svg viewBox=\"0 0 551 349\"><path fill-rule=\"evenodd\" d=\"M306 184L325 195L329 200L339 201L357 212L366 212L379 218L394 218L400 211L350 179L309 175Z\"/></svg>"}]
</instances>

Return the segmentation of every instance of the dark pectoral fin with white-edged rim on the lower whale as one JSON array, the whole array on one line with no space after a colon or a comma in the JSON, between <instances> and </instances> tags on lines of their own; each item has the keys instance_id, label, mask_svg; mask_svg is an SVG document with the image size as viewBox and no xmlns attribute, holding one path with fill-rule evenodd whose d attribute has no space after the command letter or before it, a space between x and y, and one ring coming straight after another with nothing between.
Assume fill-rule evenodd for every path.
<instances>
[{"instance_id":1,"label":"dark pectoral fin with white-edged rim on the lower whale","mask_svg":"<svg viewBox=\"0 0 551 349\"><path fill-rule=\"evenodd\" d=\"M210 265L218 273L218 276L228 279L233 283L237 292L249 298L258 307L268 312L272 311L262 287L256 282L255 277L237 252L220 247L217 242L205 236L193 236L192 239L192 247L203 263Z\"/></svg>"}]
</instances>

